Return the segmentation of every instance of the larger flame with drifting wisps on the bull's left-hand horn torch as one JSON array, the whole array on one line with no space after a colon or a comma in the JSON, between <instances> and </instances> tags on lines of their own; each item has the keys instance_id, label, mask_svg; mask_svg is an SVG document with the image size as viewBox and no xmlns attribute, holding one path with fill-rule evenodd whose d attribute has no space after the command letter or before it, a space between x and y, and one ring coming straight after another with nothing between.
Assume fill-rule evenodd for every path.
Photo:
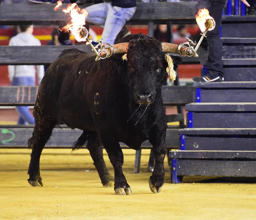
<instances>
[{"instance_id":1,"label":"larger flame with drifting wisps on the bull's left-hand horn torch","mask_svg":"<svg viewBox=\"0 0 256 220\"><path fill-rule=\"evenodd\" d=\"M58 9L59 6L62 5L61 1L57 2L57 6L55 6L54 10ZM69 4L67 9L63 9L62 12L65 14L70 13L71 21L64 26L62 29L67 32L71 32L71 34L75 37L76 41L86 41L88 37L88 31L84 27L85 20L88 15L86 9L80 9L76 3Z\"/></svg>"}]
</instances>

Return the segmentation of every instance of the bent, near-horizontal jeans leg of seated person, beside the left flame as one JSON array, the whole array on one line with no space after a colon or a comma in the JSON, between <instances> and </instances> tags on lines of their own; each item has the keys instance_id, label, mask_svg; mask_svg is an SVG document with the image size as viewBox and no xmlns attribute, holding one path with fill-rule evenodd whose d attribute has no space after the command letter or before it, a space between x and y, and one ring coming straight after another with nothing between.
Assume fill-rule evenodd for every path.
<instances>
[{"instance_id":1,"label":"bent, near-horizontal jeans leg of seated person, beside the left flame","mask_svg":"<svg viewBox=\"0 0 256 220\"><path fill-rule=\"evenodd\" d=\"M88 16L85 22L93 23L104 27L108 13L108 5L110 3L99 3L87 7Z\"/></svg>"}]
</instances>

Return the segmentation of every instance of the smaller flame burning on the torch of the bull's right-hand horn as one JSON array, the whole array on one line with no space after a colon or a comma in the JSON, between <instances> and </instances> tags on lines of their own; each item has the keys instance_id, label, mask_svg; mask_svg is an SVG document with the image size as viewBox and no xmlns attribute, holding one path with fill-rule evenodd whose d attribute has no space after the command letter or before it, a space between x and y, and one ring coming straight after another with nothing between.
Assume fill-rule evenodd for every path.
<instances>
[{"instance_id":1,"label":"smaller flame burning on the torch of the bull's right-hand horn","mask_svg":"<svg viewBox=\"0 0 256 220\"><path fill-rule=\"evenodd\" d=\"M212 22L210 28L207 28L207 20L209 19ZM198 23L201 32L204 32L205 30L211 31L215 28L215 20L209 15L209 11L207 9L200 9L195 15L195 20Z\"/></svg>"}]
</instances>

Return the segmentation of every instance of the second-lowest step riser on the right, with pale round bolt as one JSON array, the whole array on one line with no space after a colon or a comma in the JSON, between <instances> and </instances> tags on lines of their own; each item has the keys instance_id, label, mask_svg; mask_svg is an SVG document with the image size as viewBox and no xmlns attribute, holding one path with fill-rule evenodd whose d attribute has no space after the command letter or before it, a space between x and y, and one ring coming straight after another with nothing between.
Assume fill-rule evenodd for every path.
<instances>
[{"instance_id":1,"label":"second-lowest step riser on the right, with pale round bolt","mask_svg":"<svg viewBox=\"0 0 256 220\"><path fill-rule=\"evenodd\" d=\"M256 151L256 138L249 136L185 136L185 150L187 151Z\"/></svg>"}]
</instances>

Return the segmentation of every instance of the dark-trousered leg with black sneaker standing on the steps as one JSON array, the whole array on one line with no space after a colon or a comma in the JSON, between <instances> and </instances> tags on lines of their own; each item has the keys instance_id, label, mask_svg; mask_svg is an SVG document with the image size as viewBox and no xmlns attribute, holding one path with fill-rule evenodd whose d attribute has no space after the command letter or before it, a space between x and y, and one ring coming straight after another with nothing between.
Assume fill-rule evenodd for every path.
<instances>
[{"instance_id":1,"label":"dark-trousered leg with black sneaker standing on the steps","mask_svg":"<svg viewBox=\"0 0 256 220\"><path fill-rule=\"evenodd\" d=\"M208 31L207 44L208 44L208 73L204 77L194 77L194 81L223 81L224 69L222 62L222 41L220 38L220 26L222 21L222 13L227 0L211 0L209 6L209 14L215 20L216 26L213 30Z\"/></svg>"}]
</instances>

